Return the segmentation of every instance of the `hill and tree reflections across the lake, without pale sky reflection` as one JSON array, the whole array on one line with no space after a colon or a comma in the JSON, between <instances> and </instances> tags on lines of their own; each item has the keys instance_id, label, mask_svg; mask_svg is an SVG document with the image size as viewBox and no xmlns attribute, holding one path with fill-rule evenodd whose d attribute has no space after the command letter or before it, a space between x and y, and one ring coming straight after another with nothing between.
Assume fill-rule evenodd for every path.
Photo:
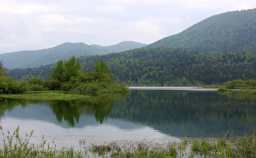
<instances>
[{"instance_id":1,"label":"hill and tree reflections across the lake, without pale sky reflection","mask_svg":"<svg viewBox=\"0 0 256 158\"><path fill-rule=\"evenodd\" d=\"M76 101L0 98L2 119L8 114L65 128L106 122L125 131L150 127L179 138L222 137L228 129L237 135L251 132L256 127L255 112L255 92L131 90L131 94L104 94Z\"/></svg>"}]
</instances>

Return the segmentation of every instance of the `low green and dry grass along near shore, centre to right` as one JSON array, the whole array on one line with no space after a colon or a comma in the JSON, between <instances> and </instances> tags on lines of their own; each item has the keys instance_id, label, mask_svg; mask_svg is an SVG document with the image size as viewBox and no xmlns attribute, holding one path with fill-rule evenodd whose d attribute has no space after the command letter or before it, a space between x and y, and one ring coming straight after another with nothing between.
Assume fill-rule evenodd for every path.
<instances>
[{"instance_id":1,"label":"low green and dry grass along near shore, centre to right","mask_svg":"<svg viewBox=\"0 0 256 158\"><path fill-rule=\"evenodd\" d=\"M115 141L93 145L99 157L256 157L256 136L205 138L163 145L152 140Z\"/></svg>"}]
</instances>

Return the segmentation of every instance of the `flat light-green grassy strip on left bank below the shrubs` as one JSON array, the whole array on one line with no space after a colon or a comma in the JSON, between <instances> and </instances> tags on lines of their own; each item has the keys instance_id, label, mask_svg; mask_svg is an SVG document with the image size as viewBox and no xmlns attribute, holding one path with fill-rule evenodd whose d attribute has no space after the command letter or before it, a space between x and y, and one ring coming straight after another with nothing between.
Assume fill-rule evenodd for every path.
<instances>
[{"instance_id":1,"label":"flat light-green grassy strip on left bank below the shrubs","mask_svg":"<svg viewBox=\"0 0 256 158\"><path fill-rule=\"evenodd\" d=\"M62 100L69 101L74 99L83 99L88 96L78 94L63 94L56 92L37 92L32 94L1 94L0 97L12 98L12 99L29 99L37 101L52 101Z\"/></svg>"}]
</instances>

